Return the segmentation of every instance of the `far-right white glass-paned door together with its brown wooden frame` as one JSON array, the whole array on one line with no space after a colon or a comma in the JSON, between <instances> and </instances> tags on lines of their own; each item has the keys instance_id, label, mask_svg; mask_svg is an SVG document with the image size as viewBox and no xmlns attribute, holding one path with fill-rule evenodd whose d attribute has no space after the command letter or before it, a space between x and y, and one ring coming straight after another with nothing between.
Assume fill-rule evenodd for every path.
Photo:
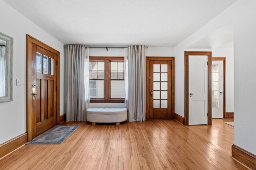
<instances>
[{"instance_id":1,"label":"far-right white glass-paned door together with its brown wooden frame","mask_svg":"<svg viewBox=\"0 0 256 170\"><path fill-rule=\"evenodd\" d=\"M226 118L226 57L212 57L212 118Z\"/></svg>"}]
</instances>

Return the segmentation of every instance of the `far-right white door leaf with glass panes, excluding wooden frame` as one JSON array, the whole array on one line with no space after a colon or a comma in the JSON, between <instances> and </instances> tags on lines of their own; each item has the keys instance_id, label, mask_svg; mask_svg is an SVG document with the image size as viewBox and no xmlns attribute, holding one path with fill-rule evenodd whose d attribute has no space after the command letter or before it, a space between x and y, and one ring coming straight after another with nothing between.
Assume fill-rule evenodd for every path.
<instances>
[{"instance_id":1,"label":"far-right white door leaf with glass panes, excluding wooden frame","mask_svg":"<svg viewBox=\"0 0 256 170\"><path fill-rule=\"evenodd\" d=\"M223 118L223 61L212 61L212 118Z\"/></svg>"}]
</instances>

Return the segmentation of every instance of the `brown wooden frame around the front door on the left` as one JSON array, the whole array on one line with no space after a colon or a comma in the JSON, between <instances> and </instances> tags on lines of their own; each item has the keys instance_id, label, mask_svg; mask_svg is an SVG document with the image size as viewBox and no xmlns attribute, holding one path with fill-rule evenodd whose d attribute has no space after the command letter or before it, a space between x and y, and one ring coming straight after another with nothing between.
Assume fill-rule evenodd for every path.
<instances>
[{"instance_id":1,"label":"brown wooden frame around the front door on the left","mask_svg":"<svg viewBox=\"0 0 256 170\"><path fill-rule=\"evenodd\" d=\"M31 35L26 35L26 129L28 134L28 142L32 141L32 131L35 126L32 120L32 44L38 45L54 54L57 55L57 114L56 114L56 124L60 123L60 52L53 49L52 47L42 43L38 39L35 39Z\"/></svg>"}]
</instances>

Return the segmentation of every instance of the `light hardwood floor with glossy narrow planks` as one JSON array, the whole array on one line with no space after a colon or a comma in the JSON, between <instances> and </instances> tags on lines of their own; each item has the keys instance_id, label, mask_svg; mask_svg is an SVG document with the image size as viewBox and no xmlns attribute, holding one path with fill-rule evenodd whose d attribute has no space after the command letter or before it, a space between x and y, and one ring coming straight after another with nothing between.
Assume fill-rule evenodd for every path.
<instances>
[{"instance_id":1,"label":"light hardwood floor with glossy narrow planks","mask_svg":"<svg viewBox=\"0 0 256 170\"><path fill-rule=\"evenodd\" d=\"M245 169L231 156L233 127L183 126L176 120L80 124L61 145L25 145L0 169Z\"/></svg>"}]
</instances>

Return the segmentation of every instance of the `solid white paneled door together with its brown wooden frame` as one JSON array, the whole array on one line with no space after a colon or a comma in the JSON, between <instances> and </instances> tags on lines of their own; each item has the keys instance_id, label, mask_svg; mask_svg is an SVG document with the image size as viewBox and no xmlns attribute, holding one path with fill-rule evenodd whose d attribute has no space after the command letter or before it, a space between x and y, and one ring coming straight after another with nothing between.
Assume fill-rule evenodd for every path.
<instances>
[{"instance_id":1,"label":"solid white paneled door together with its brown wooden frame","mask_svg":"<svg viewBox=\"0 0 256 170\"><path fill-rule=\"evenodd\" d=\"M212 125L212 52L185 51L184 125Z\"/></svg>"}]
</instances>

